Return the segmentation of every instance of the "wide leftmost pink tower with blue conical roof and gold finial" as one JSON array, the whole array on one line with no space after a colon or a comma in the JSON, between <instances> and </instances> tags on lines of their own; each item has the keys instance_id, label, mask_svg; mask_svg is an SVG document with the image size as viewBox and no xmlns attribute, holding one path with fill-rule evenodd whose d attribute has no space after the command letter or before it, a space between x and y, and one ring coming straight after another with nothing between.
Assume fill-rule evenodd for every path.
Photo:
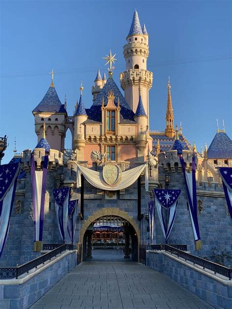
<instances>
[{"instance_id":1,"label":"wide leftmost pink tower with blue conical roof and gold finial","mask_svg":"<svg viewBox=\"0 0 232 309\"><path fill-rule=\"evenodd\" d=\"M51 72L51 85L44 98L32 110L35 117L35 132L38 142L42 138L43 125L46 125L46 140L52 149L62 151L65 143L65 118L67 111L65 104L62 104L54 87L53 70Z\"/></svg>"}]
</instances>

